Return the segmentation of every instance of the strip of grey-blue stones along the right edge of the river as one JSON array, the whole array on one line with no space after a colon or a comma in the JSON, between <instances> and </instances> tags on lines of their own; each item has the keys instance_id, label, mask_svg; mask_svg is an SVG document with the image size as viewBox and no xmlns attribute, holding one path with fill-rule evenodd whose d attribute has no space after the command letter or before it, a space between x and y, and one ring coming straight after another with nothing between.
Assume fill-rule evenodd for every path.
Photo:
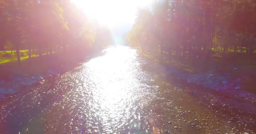
<instances>
[{"instance_id":1,"label":"strip of grey-blue stones along the right edge of the river","mask_svg":"<svg viewBox=\"0 0 256 134\"><path fill-rule=\"evenodd\" d=\"M168 67L165 67L165 70L166 75L175 75L177 79L186 81L189 84L212 89L220 92L222 95L232 96L233 98L256 104L256 94L243 89L242 85L244 81L247 81L246 77L233 78L229 73L216 75L214 71L198 74L184 73ZM235 68L235 70L237 70L237 68Z\"/></svg>"}]
</instances>

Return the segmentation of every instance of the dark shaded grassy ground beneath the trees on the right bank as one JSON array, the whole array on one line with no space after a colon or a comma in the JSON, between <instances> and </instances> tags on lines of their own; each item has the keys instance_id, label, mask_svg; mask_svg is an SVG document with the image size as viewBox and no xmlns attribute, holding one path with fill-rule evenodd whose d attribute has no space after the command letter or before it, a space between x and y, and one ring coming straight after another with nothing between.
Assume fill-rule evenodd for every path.
<instances>
[{"instance_id":1,"label":"dark shaded grassy ground beneath the trees on the right bank","mask_svg":"<svg viewBox=\"0 0 256 134\"><path fill-rule=\"evenodd\" d=\"M233 78L247 78L242 87L245 90L256 93L256 58L246 59L248 53L227 53L224 56L215 53L206 61L205 59L189 59L187 57L170 56L164 53L163 56L147 53L144 56L152 61L174 68L184 73L207 73L214 71L216 75L230 73ZM229 58L232 57L232 58ZM237 68L237 70L234 70Z\"/></svg>"}]
</instances>

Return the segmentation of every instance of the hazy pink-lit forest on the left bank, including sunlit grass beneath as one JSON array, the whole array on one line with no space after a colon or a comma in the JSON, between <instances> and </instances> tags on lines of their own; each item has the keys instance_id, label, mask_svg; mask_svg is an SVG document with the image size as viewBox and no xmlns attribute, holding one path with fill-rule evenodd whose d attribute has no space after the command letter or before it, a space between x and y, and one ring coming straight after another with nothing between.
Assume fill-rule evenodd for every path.
<instances>
[{"instance_id":1,"label":"hazy pink-lit forest on the left bank, including sunlit grass beneath","mask_svg":"<svg viewBox=\"0 0 256 134\"><path fill-rule=\"evenodd\" d=\"M0 0L2 72L75 61L112 43L111 30L70 0Z\"/></svg>"}]
</instances>

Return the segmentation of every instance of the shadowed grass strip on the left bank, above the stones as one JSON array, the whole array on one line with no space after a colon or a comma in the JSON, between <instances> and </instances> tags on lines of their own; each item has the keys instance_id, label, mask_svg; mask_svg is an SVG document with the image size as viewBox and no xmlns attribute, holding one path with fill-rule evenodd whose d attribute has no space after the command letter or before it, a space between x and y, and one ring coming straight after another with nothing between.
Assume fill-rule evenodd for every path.
<instances>
[{"instance_id":1,"label":"shadowed grass strip on the left bank, above the stones","mask_svg":"<svg viewBox=\"0 0 256 134\"><path fill-rule=\"evenodd\" d=\"M52 53L45 54L43 56L24 57L21 60L21 66L18 65L17 60L12 62L6 62L0 64L0 79L6 79L11 75L36 75L47 73L48 70L54 70L55 72L64 72L67 69L76 67L79 63L86 61L88 56L102 56L104 53L101 51L96 53ZM93 58L90 57L90 58Z\"/></svg>"}]
</instances>

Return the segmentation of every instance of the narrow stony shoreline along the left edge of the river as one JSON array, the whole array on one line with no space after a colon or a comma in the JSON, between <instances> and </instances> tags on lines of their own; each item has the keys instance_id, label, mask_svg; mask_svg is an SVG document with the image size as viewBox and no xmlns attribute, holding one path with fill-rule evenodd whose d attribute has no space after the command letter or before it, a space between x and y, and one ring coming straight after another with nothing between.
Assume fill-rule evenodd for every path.
<instances>
[{"instance_id":1,"label":"narrow stony shoreline along the left edge of the river","mask_svg":"<svg viewBox=\"0 0 256 134\"><path fill-rule=\"evenodd\" d=\"M102 54L104 53L97 52L88 54L87 56L84 56L84 58L81 58L81 60L64 61L59 64L57 62L57 64L49 66L48 70L41 74L9 74L8 80L0 79L0 101L5 100L6 98L12 98L20 92L33 92L36 89L35 87L44 84L48 79L59 77L62 73L77 67L78 64L97 56L101 56Z\"/></svg>"}]
</instances>

